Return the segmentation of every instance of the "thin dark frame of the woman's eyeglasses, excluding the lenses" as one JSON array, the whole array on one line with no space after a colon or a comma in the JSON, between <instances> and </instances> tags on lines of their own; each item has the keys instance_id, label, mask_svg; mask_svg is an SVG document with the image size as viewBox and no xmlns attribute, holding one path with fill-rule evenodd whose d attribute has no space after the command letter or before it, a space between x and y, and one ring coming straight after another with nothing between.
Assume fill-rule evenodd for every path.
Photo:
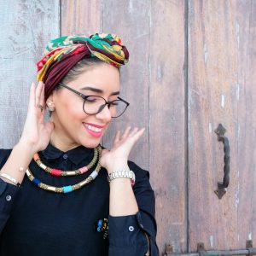
<instances>
[{"instance_id":1,"label":"thin dark frame of the woman's eyeglasses, excluding the lenses","mask_svg":"<svg viewBox=\"0 0 256 256\"><path fill-rule=\"evenodd\" d=\"M69 87L69 86L67 86L66 84L63 84L63 83L61 83L61 82L59 83L59 85L61 85L62 87L66 88L67 90L73 91L73 93L75 93L76 95L80 96L80 97L84 100L84 102L85 102L86 99L89 98L90 96L97 96L97 95L88 95L88 96L85 96L83 93L79 92L78 90L74 90L73 88L71 88L71 87ZM102 105L102 106L104 106L104 107L103 107L103 108L99 108L99 111L98 111L97 113L102 112L102 110L103 110L106 106L108 106L108 109L109 109L110 106L111 106L111 104L112 104L113 102L117 101L117 100L114 100L114 101L112 101L112 102L107 102L107 101L105 100L105 98L103 98L102 96L97 96L97 97L100 97L100 98L102 98L102 99L105 101L105 104ZM124 99L120 98L119 96L118 96L118 100L121 101L121 102L125 102L125 104L126 104L125 110L126 110L126 108L128 108L128 106L130 105L129 102L126 102ZM101 107L102 107L102 106L101 106ZM83 104L83 110L84 110L84 104ZM115 117L111 116L111 118L113 118L113 119L119 118L123 113L125 113L125 110L124 110L121 114L119 114L119 116L115 116ZM85 110L84 110L84 113L87 113L87 112L85 112ZM97 113L87 113L87 114L94 115L94 114L97 114Z\"/></svg>"}]
</instances>

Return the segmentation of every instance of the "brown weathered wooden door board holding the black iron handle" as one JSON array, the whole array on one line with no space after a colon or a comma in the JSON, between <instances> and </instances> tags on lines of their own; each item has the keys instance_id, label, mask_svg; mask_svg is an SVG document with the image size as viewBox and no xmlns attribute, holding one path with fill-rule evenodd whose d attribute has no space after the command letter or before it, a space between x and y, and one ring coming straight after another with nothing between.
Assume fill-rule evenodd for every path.
<instances>
[{"instance_id":1,"label":"brown weathered wooden door board holding the black iron handle","mask_svg":"<svg viewBox=\"0 0 256 256\"><path fill-rule=\"evenodd\" d=\"M255 3L189 1L189 250L255 244ZM254 58L253 58L254 56ZM230 186L219 200L222 123L230 139Z\"/></svg>"}]
</instances>

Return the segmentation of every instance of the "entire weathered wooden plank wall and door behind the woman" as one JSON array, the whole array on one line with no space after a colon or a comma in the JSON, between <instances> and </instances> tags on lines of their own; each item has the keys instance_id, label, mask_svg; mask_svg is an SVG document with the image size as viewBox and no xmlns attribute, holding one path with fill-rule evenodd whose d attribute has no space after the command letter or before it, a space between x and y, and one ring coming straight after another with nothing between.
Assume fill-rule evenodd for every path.
<instances>
[{"instance_id":1,"label":"entire weathered wooden plank wall and door behind the woman","mask_svg":"<svg viewBox=\"0 0 256 256\"><path fill-rule=\"evenodd\" d=\"M19 140L35 63L50 38L113 32L130 50L113 131L147 132L131 159L149 170L157 241L175 252L256 247L255 0L0 0L0 148ZM230 139L230 187L218 123Z\"/></svg>"}]
</instances>

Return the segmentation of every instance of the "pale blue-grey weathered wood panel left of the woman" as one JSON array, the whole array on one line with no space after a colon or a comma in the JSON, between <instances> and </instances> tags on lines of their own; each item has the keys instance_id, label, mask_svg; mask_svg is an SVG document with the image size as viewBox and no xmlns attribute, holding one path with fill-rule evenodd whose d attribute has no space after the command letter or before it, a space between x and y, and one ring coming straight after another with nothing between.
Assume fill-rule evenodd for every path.
<instances>
[{"instance_id":1,"label":"pale blue-grey weathered wood panel left of the woman","mask_svg":"<svg viewBox=\"0 0 256 256\"><path fill-rule=\"evenodd\" d=\"M0 1L0 148L18 142L36 62L59 35L59 1Z\"/></svg>"}]
</instances>

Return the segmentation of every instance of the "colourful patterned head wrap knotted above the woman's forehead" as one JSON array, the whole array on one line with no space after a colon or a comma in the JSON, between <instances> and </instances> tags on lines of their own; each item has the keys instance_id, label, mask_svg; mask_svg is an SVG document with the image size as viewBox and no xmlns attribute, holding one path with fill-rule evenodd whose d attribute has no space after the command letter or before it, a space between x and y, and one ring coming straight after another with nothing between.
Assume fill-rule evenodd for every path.
<instances>
[{"instance_id":1,"label":"colourful patterned head wrap knotted above the woman's forehead","mask_svg":"<svg viewBox=\"0 0 256 256\"><path fill-rule=\"evenodd\" d=\"M90 38L65 36L50 40L44 57L37 63L38 81L44 82L45 99L80 60L90 57L119 68L128 62L129 52L114 34L96 33Z\"/></svg>"}]
</instances>

